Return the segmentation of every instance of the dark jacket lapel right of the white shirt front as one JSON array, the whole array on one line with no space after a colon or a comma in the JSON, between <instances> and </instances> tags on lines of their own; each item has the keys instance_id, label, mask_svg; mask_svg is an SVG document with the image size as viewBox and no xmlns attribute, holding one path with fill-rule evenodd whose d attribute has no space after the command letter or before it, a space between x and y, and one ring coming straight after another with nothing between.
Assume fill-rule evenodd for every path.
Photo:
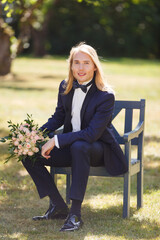
<instances>
[{"instance_id":1,"label":"dark jacket lapel right of the white shirt front","mask_svg":"<svg viewBox=\"0 0 160 240\"><path fill-rule=\"evenodd\" d=\"M97 87L96 87L95 83L93 83L92 86L90 87L89 91L87 92L87 95L84 99L84 102L83 102L83 105L82 105L82 108L81 108L81 124L82 124L82 121L83 121L83 117L84 117L86 107L88 106L88 103L91 101L91 99L92 99L94 93L96 92L96 90L97 90Z\"/></svg>"}]
</instances>

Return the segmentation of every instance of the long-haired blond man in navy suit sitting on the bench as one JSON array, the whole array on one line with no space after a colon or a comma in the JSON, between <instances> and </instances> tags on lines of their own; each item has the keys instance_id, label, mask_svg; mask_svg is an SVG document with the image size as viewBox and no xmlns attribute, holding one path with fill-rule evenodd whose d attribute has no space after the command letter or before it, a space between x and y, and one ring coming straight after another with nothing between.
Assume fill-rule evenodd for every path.
<instances>
[{"instance_id":1,"label":"long-haired blond man in navy suit sitting on the bench","mask_svg":"<svg viewBox=\"0 0 160 240\"><path fill-rule=\"evenodd\" d=\"M51 203L43 216L33 220L66 218L60 231L78 230L83 225L81 206L90 166L104 165L111 175L127 171L111 125L115 96L104 82L96 50L80 43L71 49L68 61L68 77L60 83L55 113L41 127L52 133L64 126L63 133L42 146L42 158L34 165L29 160L23 162L40 198L48 196ZM45 166L71 167L70 210Z\"/></svg>"}]
</instances>

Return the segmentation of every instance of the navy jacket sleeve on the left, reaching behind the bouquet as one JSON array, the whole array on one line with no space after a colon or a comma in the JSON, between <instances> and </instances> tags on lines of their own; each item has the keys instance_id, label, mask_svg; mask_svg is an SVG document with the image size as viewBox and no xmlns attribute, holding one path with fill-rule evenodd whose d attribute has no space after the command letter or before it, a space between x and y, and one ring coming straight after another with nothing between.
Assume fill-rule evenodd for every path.
<instances>
[{"instance_id":1,"label":"navy jacket sleeve on the left, reaching behind the bouquet","mask_svg":"<svg viewBox=\"0 0 160 240\"><path fill-rule=\"evenodd\" d=\"M48 119L48 121L41 127L42 130L55 131L64 124L65 110L62 104L62 93L64 91L64 81L61 82L58 92L58 102L55 113Z\"/></svg>"}]
</instances>

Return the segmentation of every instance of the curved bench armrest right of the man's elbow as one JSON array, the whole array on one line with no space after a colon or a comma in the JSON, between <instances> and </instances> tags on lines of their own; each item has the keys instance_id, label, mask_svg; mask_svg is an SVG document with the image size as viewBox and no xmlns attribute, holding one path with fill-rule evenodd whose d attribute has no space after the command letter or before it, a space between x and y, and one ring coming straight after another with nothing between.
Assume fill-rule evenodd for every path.
<instances>
[{"instance_id":1,"label":"curved bench armrest right of the man's elbow","mask_svg":"<svg viewBox=\"0 0 160 240\"><path fill-rule=\"evenodd\" d=\"M144 122L139 122L134 130L127 132L123 135L124 142L129 142L131 139L136 138L144 130Z\"/></svg>"}]
</instances>

